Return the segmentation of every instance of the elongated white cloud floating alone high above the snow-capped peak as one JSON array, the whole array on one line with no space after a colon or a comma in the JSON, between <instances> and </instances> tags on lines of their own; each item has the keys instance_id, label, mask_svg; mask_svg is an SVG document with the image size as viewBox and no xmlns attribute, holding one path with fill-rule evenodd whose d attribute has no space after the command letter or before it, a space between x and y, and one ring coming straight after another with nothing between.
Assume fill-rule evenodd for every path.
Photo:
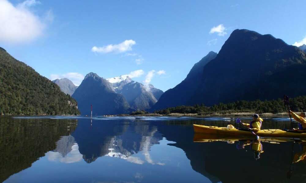
<instances>
[{"instance_id":1,"label":"elongated white cloud floating alone high above the snow-capped peak","mask_svg":"<svg viewBox=\"0 0 306 183\"><path fill-rule=\"evenodd\" d=\"M130 40L125 40L122 43L119 43L117 45L106 45L103 47L92 47L91 51L92 52L99 52L99 53L110 53L110 52L115 52L115 53L122 53L122 52L127 52L132 50L132 46L135 45L136 42L132 39Z\"/></svg>"}]
</instances>

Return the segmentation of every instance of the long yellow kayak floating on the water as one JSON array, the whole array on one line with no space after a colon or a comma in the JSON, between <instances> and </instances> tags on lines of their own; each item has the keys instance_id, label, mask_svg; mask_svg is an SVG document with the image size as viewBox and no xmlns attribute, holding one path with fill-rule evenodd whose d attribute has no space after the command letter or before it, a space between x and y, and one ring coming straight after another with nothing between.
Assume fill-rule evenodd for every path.
<instances>
[{"instance_id":1,"label":"long yellow kayak floating on the water","mask_svg":"<svg viewBox=\"0 0 306 183\"><path fill-rule=\"evenodd\" d=\"M217 135L233 135L233 136L255 136L251 131L227 127L215 127L205 125L193 125L194 132ZM287 137L287 138L306 138L305 132L285 131L280 129L265 129L256 132L259 137Z\"/></svg>"}]
</instances>

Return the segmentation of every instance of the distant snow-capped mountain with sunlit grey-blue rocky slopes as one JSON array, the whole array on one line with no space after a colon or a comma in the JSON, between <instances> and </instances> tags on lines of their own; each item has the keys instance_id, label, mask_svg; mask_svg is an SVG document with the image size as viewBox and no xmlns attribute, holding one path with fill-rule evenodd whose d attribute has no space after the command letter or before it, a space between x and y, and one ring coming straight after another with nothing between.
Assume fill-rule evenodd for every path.
<instances>
[{"instance_id":1,"label":"distant snow-capped mountain with sunlit grey-blue rocky slopes","mask_svg":"<svg viewBox=\"0 0 306 183\"><path fill-rule=\"evenodd\" d=\"M116 93L122 94L132 110L147 110L150 109L163 94L163 91L155 88L152 84L149 89L139 82L132 81L128 75L121 75L106 79L109 81Z\"/></svg>"}]
</instances>

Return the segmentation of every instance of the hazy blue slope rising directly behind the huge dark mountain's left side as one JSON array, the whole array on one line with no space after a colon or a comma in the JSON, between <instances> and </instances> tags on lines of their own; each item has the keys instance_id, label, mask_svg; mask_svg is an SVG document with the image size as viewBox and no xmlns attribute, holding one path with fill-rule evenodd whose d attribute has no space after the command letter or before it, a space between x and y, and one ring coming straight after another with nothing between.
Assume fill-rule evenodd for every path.
<instances>
[{"instance_id":1,"label":"hazy blue slope rising directly behind the huge dark mountain's left side","mask_svg":"<svg viewBox=\"0 0 306 183\"><path fill-rule=\"evenodd\" d=\"M186 105L188 100L192 97L200 85L203 75L203 67L212 59L215 59L216 56L217 53L209 52L207 56L203 57L198 63L194 64L185 80L161 95L159 101L152 107L151 111L164 109L167 107Z\"/></svg>"}]
</instances>

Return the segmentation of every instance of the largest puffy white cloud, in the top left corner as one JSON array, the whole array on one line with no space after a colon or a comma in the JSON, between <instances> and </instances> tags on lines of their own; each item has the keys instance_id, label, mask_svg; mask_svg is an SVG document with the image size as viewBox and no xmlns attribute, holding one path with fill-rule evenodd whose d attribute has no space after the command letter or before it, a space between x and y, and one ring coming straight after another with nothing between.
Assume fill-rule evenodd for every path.
<instances>
[{"instance_id":1,"label":"largest puffy white cloud, in the top left corner","mask_svg":"<svg viewBox=\"0 0 306 183\"><path fill-rule=\"evenodd\" d=\"M29 42L43 35L47 22L30 10L37 4L40 2L27 0L14 6L7 0L0 0L0 42Z\"/></svg>"}]
</instances>

